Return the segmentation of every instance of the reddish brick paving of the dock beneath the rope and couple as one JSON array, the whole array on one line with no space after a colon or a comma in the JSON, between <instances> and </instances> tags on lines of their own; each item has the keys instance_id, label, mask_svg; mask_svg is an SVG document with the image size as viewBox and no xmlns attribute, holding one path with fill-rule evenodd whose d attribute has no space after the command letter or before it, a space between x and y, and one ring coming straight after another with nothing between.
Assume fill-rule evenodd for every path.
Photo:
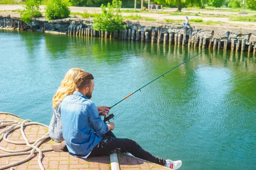
<instances>
[{"instance_id":1,"label":"reddish brick paving of the dock beneath the rope and couple","mask_svg":"<svg viewBox=\"0 0 256 170\"><path fill-rule=\"evenodd\" d=\"M13 116L6 116L0 114L1 120L18 120L18 118ZM6 129L3 127L0 131ZM39 125L25 126L24 131L29 140L39 139L48 132L46 127ZM20 129L15 130L8 136L9 140L17 140L18 142L25 142L23 136L21 135ZM52 144L58 144L51 139L45 140L39 148L49 149L52 148ZM21 150L27 148L26 145L9 144L6 141L0 141L0 146L9 149ZM6 153L0 150L0 154ZM0 158L0 167L5 166L8 163L15 163L22 159L25 159L29 155L12 156ZM23 164L14 167L14 170L41 170L38 165L39 154L34 154L30 161L26 161ZM88 159L80 159L75 156L70 155L67 152L44 152L43 158L41 159L42 164L46 170L111 170L110 167L110 157L100 156L100 157L89 157ZM166 170L164 167L153 163L146 163L129 156L125 156L122 153L119 155L120 167L122 170Z\"/></svg>"}]
</instances>

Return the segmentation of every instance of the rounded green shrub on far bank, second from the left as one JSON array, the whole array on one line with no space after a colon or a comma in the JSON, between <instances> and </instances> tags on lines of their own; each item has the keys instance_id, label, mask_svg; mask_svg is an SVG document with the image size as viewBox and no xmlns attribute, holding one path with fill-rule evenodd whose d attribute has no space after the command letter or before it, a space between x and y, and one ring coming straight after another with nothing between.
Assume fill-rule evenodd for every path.
<instances>
[{"instance_id":1,"label":"rounded green shrub on far bank, second from the left","mask_svg":"<svg viewBox=\"0 0 256 170\"><path fill-rule=\"evenodd\" d=\"M67 1L50 0L45 8L45 17L48 20L58 20L69 17L70 9Z\"/></svg>"}]
</instances>

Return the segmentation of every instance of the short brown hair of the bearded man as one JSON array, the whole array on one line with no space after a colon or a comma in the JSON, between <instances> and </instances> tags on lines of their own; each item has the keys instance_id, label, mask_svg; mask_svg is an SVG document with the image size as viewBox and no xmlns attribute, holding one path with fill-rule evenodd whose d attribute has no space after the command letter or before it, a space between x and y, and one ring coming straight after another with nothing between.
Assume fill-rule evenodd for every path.
<instances>
[{"instance_id":1,"label":"short brown hair of the bearded man","mask_svg":"<svg viewBox=\"0 0 256 170\"><path fill-rule=\"evenodd\" d=\"M91 80L93 80L94 77L92 74L88 72L81 72L77 75L75 79L75 87L78 90L82 90L86 87L90 87L91 85Z\"/></svg>"}]
</instances>

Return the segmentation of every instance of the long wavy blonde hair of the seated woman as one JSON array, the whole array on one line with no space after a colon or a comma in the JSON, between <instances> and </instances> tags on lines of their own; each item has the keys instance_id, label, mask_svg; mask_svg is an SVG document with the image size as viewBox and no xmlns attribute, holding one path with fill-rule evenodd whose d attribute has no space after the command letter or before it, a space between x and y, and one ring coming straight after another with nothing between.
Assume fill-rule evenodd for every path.
<instances>
[{"instance_id":1,"label":"long wavy blonde hair of the seated woman","mask_svg":"<svg viewBox=\"0 0 256 170\"><path fill-rule=\"evenodd\" d=\"M65 74L64 79L61 81L61 86L58 88L56 94L52 98L52 107L57 108L59 102L61 102L66 96L73 94L76 90L75 88L75 78L76 76L83 72L81 68L71 68Z\"/></svg>"}]
</instances>

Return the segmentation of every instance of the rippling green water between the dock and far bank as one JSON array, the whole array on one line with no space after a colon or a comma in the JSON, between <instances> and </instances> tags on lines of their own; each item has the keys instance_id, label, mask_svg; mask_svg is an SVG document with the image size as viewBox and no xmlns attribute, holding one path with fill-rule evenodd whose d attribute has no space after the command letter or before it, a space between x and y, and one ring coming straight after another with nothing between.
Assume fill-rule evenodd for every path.
<instances>
[{"instance_id":1,"label":"rippling green water between the dock and far bank","mask_svg":"<svg viewBox=\"0 0 256 170\"><path fill-rule=\"evenodd\" d=\"M0 111L49 125L70 68L95 77L93 102L111 106L199 48L0 30ZM206 51L111 109L117 137L181 170L256 169L256 56Z\"/></svg>"}]
</instances>

